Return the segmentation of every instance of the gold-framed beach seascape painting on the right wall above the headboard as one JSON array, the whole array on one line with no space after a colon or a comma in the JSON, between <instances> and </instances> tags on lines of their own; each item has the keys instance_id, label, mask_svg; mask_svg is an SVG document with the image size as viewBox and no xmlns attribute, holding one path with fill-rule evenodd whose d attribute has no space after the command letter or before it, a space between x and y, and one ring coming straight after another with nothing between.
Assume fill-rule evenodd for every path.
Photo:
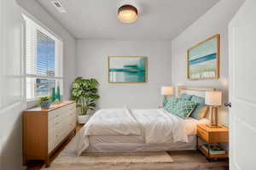
<instances>
[{"instance_id":1,"label":"gold-framed beach seascape painting on the right wall above the headboard","mask_svg":"<svg viewBox=\"0 0 256 170\"><path fill-rule=\"evenodd\" d=\"M220 35L207 38L188 49L188 79L217 79L219 77Z\"/></svg>"}]
</instances>

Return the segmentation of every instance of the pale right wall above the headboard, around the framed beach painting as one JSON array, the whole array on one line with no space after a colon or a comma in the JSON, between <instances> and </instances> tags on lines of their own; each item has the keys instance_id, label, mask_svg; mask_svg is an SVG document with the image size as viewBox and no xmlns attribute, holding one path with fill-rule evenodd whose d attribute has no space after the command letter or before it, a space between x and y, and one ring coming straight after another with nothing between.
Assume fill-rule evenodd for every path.
<instances>
[{"instance_id":1,"label":"pale right wall above the headboard, around the framed beach painting","mask_svg":"<svg viewBox=\"0 0 256 170\"><path fill-rule=\"evenodd\" d=\"M243 2L244 0L220 1L172 41L172 82L176 85L219 88L224 92L224 102L228 101L228 24ZM215 34L221 36L220 78L218 80L189 81L186 78L187 49ZM219 116L220 122L228 125L228 111L222 108Z\"/></svg>"}]
</instances>

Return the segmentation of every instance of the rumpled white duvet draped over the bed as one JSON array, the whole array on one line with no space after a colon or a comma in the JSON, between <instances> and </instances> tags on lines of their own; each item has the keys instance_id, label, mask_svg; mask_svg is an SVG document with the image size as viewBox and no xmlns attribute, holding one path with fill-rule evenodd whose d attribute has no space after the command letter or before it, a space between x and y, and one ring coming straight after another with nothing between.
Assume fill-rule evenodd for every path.
<instances>
[{"instance_id":1,"label":"rumpled white duvet draped over the bed","mask_svg":"<svg viewBox=\"0 0 256 170\"><path fill-rule=\"evenodd\" d=\"M97 111L77 135L77 154L89 146L89 136L143 136L146 144L172 140L188 142L184 121L161 109L104 109Z\"/></svg>"}]
</instances>

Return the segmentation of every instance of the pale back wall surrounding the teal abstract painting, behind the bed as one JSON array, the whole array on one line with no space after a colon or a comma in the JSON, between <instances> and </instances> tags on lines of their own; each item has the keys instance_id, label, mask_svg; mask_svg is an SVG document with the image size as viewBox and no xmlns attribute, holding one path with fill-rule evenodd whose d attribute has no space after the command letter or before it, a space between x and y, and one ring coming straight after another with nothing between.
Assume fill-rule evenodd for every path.
<instances>
[{"instance_id":1,"label":"pale back wall surrounding the teal abstract painting, behind the bed","mask_svg":"<svg viewBox=\"0 0 256 170\"><path fill-rule=\"evenodd\" d=\"M76 76L100 82L100 108L157 108L160 87L172 84L171 42L78 40L76 47ZM148 56L147 83L108 83L108 56L124 55Z\"/></svg>"}]
</instances>

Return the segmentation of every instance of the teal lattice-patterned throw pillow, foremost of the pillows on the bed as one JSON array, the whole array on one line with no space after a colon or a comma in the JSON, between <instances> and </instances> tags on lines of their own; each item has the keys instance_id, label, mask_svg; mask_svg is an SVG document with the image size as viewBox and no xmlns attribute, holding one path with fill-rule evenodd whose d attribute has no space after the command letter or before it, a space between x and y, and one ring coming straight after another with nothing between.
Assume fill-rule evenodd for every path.
<instances>
[{"instance_id":1,"label":"teal lattice-patterned throw pillow, foremost of the pillows on the bed","mask_svg":"<svg viewBox=\"0 0 256 170\"><path fill-rule=\"evenodd\" d=\"M196 105L197 103L195 103L195 101L178 100L171 113L185 119L190 115L191 111L195 109Z\"/></svg>"}]
</instances>

